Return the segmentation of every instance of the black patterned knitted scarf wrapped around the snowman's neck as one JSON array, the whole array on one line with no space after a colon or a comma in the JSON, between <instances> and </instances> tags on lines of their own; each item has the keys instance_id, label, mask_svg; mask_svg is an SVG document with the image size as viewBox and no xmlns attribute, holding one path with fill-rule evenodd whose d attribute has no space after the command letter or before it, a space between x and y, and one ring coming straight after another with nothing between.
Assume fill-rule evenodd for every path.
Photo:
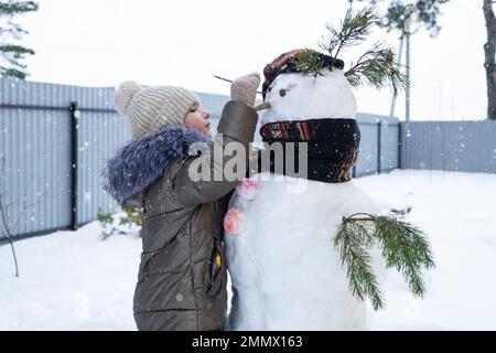
<instances>
[{"instance_id":1,"label":"black patterned knitted scarf wrapped around the snowman's neck","mask_svg":"<svg viewBox=\"0 0 496 353\"><path fill-rule=\"evenodd\" d=\"M266 124L260 129L263 142L283 145L284 174L287 174L287 142L308 142L308 179L327 183L352 180L352 168L358 157L360 131L354 119L311 119ZM294 165L298 171L299 148L295 146ZM274 169L270 156L270 171Z\"/></svg>"}]
</instances>

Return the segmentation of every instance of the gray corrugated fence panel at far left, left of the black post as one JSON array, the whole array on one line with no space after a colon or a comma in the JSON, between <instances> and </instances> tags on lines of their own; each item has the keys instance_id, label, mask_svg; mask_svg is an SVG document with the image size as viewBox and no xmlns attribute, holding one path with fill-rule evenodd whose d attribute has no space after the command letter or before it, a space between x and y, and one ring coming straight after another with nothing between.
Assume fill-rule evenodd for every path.
<instances>
[{"instance_id":1,"label":"gray corrugated fence panel at far left, left of the black post","mask_svg":"<svg viewBox=\"0 0 496 353\"><path fill-rule=\"evenodd\" d=\"M68 226L68 111L0 108L0 131L6 159L0 188L14 233Z\"/></svg>"}]
</instances>

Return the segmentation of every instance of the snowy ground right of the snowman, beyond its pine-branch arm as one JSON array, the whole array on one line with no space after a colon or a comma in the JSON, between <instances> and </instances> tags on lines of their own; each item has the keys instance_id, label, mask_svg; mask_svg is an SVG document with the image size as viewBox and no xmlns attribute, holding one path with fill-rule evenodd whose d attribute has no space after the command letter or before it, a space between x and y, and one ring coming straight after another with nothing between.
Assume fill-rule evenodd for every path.
<instances>
[{"instance_id":1,"label":"snowy ground right of the snowman, beyond its pine-branch arm","mask_svg":"<svg viewBox=\"0 0 496 353\"><path fill-rule=\"evenodd\" d=\"M413 299L391 271L388 308L375 330L496 329L496 175L441 171L395 171L357 179L384 205L405 204L407 217L430 236L436 269L425 276L424 300Z\"/></svg>"}]
</instances>

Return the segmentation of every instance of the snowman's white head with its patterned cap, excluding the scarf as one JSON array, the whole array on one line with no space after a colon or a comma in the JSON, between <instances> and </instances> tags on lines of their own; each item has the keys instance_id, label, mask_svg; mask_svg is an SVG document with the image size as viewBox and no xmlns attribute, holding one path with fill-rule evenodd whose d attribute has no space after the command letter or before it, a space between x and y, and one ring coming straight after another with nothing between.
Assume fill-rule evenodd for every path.
<instances>
[{"instance_id":1,"label":"snowman's white head with its patterned cap, excluding the scarf","mask_svg":"<svg viewBox=\"0 0 496 353\"><path fill-rule=\"evenodd\" d=\"M315 53L321 69L301 72L294 58L301 53ZM310 119L355 119L356 98L343 72L344 63L310 50L284 53L263 69L265 100L270 108L261 115L261 124Z\"/></svg>"}]
</instances>

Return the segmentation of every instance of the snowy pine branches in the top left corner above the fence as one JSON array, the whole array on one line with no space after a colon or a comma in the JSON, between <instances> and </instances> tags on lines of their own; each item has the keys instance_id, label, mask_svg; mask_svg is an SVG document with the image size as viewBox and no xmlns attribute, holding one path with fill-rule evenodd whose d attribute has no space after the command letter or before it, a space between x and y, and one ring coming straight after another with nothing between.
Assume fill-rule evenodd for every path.
<instances>
[{"instance_id":1,"label":"snowy pine branches in the top left corner above the fence","mask_svg":"<svg viewBox=\"0 0 496 353\"><path fill-rule=\"evenodd\" d=\"M26 55L34 55L34 51L18 43L28 31L23 30L12 19L15 15L36 11L34 1L1 1L0 2L0 75L24 79L28 75L26 65L22 60Z\"/></svg>"}]
</instances>

